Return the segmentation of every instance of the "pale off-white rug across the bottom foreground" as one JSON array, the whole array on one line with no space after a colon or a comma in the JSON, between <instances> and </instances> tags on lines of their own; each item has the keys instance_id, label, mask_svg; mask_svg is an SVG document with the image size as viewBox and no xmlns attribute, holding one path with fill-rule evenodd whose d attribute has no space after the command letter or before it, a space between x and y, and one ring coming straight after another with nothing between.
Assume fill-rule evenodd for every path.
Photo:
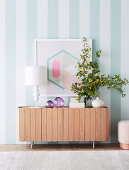
<instances>
[{"instance_id":1,"label":"pale off-white rug across the bottom foreground","mask_svg":"<svg viewBox=\"0 0 129 170\"><path fill-rule=\"evenodd\" d=\"M129 151L0 152L0 170L129 170Z\"/></svg>"}]
</instances>

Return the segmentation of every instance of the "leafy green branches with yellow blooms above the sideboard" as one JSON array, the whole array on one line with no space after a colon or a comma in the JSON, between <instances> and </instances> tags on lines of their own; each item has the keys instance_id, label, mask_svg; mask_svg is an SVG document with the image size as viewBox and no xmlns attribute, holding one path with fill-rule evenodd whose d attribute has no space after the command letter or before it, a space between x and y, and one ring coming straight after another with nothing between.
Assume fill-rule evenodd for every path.
<instances>
[{"instance_id":1,"label":"leafy green branches with yellow blooms above the sideboard","mask_svg":"<svg viewBox=\"0 0 129 170\"><path fill-rule=\"evenodd\" d=\"M91 58L91 48L85 37L83 38L83 42L80 62L76 65L76 68L78 68L76 76L79 81L72 84L71 87L72 91L78 94L78 100L83 96L86 96L87 100L92 99L92 97L98 97L98 89L104 86L108 89L116 89L124 97L125 94L122 87L126 86L129 81L126 78L122 80L120 75L110 76L109 74L101 74L98 58L101 57L102 50L96 51L96 57L94 61L91 61L89 60Z\"/></svg>"}]
</instances>

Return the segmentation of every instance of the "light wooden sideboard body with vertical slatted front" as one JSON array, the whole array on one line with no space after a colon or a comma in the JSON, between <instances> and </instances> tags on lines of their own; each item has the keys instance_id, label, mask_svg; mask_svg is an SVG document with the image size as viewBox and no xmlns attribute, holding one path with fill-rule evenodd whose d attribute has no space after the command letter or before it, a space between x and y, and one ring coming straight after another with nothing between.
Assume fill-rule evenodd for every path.
<instances>
[{"instance_id":1,"label":"light wooden sideboard body with vertical slatted front","mask_svg":"<svg viewBox=\"0 0 129 170\"><path fill-rule=\"evenodd\" d=\"M109 108L19 107L19 141L107 141Z\"/></svg>"}]
</instances>

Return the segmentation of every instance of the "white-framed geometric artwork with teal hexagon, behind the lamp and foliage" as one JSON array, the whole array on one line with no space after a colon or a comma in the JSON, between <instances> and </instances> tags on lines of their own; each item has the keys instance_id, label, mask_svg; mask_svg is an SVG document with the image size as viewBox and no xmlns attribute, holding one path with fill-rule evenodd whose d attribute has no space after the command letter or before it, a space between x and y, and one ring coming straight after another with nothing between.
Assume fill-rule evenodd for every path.
<instances>
[{"instance_id":1,"label":"white-framed geometric artwork with teal hexagon, behind the lamp and foliage","mask_svg":"<svg viewBox=\"0 0 129 170\"><path fill-rule=\"evenodd\" d=\"M89 39L88 43L92 49L92 40ZM75 66L82 48L82 39L35 40L35 64L44 66L41 96L76 96L71 91L71 85L78 81Z\"/></svg>"}]
</instances>

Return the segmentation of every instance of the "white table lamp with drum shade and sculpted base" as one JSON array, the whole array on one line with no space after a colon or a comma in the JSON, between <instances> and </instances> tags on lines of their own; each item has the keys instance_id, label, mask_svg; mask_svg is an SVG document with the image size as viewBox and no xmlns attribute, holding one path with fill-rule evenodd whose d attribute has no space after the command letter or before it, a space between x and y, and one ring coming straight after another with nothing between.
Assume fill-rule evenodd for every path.
<instances>
[{"instance_id":1,"label":"white table lamp with drum shade and sculpted base","mask_svg":"<svg viewBox=\"0 0 129 170\"><path fill-rule=\"evenodd\" d=\"M44 67L42 66L26 66L25 67L25 85L34 86L35 108L38 107L39 86L43 85Z\"/></svg>"}]
</instances>

